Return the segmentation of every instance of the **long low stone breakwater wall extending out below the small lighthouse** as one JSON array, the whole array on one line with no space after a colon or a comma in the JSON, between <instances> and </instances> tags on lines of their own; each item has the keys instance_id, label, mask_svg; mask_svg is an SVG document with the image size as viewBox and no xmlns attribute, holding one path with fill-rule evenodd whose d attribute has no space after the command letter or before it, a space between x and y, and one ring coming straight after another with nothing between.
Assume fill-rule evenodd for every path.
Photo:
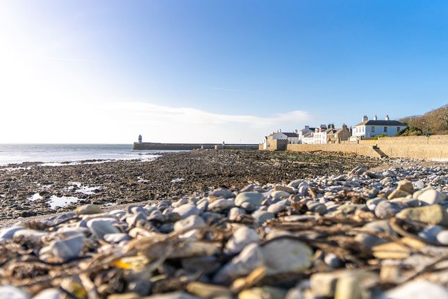
<instances>
[{"instance_id":1,"label":"long low stone breakwater wall extending out below the small lighthouse","mask_svg":"<svg viewBox=\"0 0 448 299\"><path fill-rule=\"evenodd\" d=\"M216 143L134 143L133 149L149 150L191 150L191 149L258 149L257 144Z\"/></svg>"}]
</instances>

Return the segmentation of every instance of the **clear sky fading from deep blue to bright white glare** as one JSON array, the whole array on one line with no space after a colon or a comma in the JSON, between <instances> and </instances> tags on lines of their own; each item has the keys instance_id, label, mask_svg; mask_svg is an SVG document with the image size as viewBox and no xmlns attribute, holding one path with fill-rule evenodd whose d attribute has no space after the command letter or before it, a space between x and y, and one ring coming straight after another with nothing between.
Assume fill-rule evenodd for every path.
<instances>
[{"instance_id":1,"label":"clear sky fading from deep blue to bright white glare","mask_svg":"<svg viewBox=\"0 0 448 299\"><path fill-rule=\"evenodd\" d=\"M47 114L0 142L258 142L448 102L447 1L17 0L0 26L3 108Z\"/></svg>"}]
</instances>

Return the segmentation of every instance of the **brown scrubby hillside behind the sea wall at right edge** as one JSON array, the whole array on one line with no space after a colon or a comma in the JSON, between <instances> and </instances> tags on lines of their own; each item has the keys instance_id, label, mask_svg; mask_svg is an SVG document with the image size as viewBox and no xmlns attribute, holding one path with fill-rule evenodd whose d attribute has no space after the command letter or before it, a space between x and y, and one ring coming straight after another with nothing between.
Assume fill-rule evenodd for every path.
<instances>
[{"instance_id":1,"label":"brown scrubby hillside behind the sea wall at right edge","mask_svg":"<svg viewBox=\"0 0 448 299\"><path fill-rule=\"evenodd\" d=\"M448 104L424 115L408 116L399 121L406 122L409 126L408 129L400 132L401 136L423 135L426 131L433 135L448 134Z\"/></svg>"}]
</instances>

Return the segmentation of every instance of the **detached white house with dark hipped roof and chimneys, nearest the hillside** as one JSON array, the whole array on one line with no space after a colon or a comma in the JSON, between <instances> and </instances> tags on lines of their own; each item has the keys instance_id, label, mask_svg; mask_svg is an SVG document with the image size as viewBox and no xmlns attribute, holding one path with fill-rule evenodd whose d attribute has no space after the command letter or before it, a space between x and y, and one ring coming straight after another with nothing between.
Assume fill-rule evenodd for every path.
<instances>
[{"instance_id":1,"label":"detached white house with dark hipped roof and chimneys, nearest the hillside","mask_svg":"<svg viewBox=\"0 0 448 299\"><path fill-rule=\"evenodd\" d=\"M397 132L406 129L407 125L398 120L390 120L389 115L385 116L385 120L378 120L374 117L373 120L369 120L367 115L364 115L363 122L356 124L353 127L352 137L359 138L373 138L378 135L395 136ZM352 139L352 138L351 138Z\"/></svg>"}]
</instances>

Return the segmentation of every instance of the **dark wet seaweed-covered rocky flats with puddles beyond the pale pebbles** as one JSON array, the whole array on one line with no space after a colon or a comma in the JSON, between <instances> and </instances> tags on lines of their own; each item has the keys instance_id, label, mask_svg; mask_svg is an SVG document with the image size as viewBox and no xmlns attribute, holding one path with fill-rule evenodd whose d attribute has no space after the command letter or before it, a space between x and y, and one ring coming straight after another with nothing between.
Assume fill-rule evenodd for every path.
<instances>
[{"instance_id":1,"label":"dark wet seaweed-covered rocky flats with puddles beyond the pale pebbles","mask_svg":"<svg viewBox=\"0 0 448 299\"><path fill-rule=\"evenodd\" d=\"M71 211L87 203L172 199L210 188L341 174L355 165L385 163L354 155L227 150L167 153L155 161L99 162L0 167L0 220Z\"/></svg>"}]
</instances>

